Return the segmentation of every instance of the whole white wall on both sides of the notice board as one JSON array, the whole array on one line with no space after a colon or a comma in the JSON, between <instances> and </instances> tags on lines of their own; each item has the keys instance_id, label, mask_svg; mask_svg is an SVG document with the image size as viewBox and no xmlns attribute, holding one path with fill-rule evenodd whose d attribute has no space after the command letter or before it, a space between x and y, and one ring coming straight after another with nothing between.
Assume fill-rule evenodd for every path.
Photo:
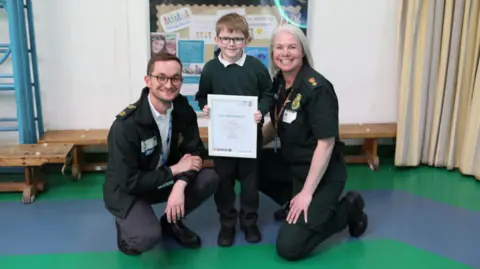
<instances>
[{"instance_id":1,"label":"whole white wall on both sides of the notice board","mask_svg":"<svg viewBox=\"0 0 480 269\"><path fill-rule=\"evenodd\" d=\"M396 121L395 2L310 1L315 66L336 88L342 123ZM138 98L148 61L148 12L148 0L34 1L46 129L108 128ZM2 14L0 43L8 42L7 30ZM0 66L0 73L6 70L8 63ZM0 117L15 113L12 94L0 94ZM0 143L16 138L0 132Z\"/></svg>"}]
</instances>

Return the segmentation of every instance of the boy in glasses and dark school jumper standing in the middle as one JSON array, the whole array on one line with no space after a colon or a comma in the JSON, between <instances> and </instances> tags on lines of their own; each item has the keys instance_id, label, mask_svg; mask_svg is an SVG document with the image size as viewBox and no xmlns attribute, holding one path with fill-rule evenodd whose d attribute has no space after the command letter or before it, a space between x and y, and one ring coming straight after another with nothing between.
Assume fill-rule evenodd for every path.
<instances>
[{"instance_id":1,"label":"boy in glasses and dark school jumper standing in the middle","mask_svg":"<svg viewBox=\"0 0 480 269\"><path fill-rule=\"evenodd\" d=\"M208 94L257 96L258 111L252 115L252 120L258 124L257 145L260 152L263 117L273 106L275 98L270 73L260 60L244 52L251 37L248 23L243 16L237 13L222 16L217 21L216 34L215 41L220 53L203 67L196 100L208 116L210 112L207 104ZM251 243L260 242L262 236L257 226L259 204L257 159L216 157L214 165L220 176L219 188L214 195L221 223L218 244L220 246L233 244L238 217L240 228L245 233L245 240ZM235 179L241 183L240 214L235 208Z\"/></svg>"}]
</instances>

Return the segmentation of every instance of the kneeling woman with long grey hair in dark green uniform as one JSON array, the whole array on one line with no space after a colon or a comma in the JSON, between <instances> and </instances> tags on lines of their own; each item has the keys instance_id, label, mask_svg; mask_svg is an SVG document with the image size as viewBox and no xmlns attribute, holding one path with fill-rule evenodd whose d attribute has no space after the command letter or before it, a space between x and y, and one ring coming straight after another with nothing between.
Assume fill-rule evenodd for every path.
<instances>
[{"instance_id":1,"label":"kneeling woman with long grey hair in dark green uniform","mask_svg":"<svg viewBox=\"0 0 480 269\"><path fill-rule=\"evenodd\" d=\"M347 173L338 100L333 85L313 69L304 33L293 25L280 26L272 38L271 58L278 91L263 133L265 144L274 141L276 157L261 157L265 170L259 185L277 203L289 204L276 249L282 258L299 260L346 228L361 236L368 217L359 193L341 198ZM278 167L272 160L280 161L282 173L273 171Z\"/></svg>"}]
</instances>

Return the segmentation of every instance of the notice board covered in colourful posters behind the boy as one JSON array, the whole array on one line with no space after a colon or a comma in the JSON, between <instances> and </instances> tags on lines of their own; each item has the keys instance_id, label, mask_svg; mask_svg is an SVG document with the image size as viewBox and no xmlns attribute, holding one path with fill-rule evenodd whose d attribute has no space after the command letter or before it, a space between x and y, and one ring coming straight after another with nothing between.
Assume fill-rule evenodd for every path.
<instances>
[{"instance_id":1,"label":"notice board covered in colourful posters behind the boy","mask_svg":"<svg viewBox=\"0 0 480 269\"><path fill-rule=\"evenodd\" d=\"M183 63L181 94L194 100L203 65L215 57L215 24L231 12L247 19L252 41L245 53L269 68L270 37L279 25L291 23L307 34L308 0L149 0L150 53L169 52Z\"/></svg>"}]
</instances>

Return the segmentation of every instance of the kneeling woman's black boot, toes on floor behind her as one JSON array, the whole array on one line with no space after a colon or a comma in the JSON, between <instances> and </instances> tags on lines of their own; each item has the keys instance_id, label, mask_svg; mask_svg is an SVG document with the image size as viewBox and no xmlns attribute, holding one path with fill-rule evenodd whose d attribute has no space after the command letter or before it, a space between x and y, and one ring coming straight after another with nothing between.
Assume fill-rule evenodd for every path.
<instances>
[{"instance_id":1,"label":"kneeling woman's black boot, toes on floor behind her","mask_svg":"<svg viewBox=\"0 0 480 269\"><path fill-rule=\"evenodd\" d=\"M368 215L363 211L365 201L360 193L349 191L345 195L348 202L348 231L353 237L360 237L368 227Z\"/></svg>"}]
</instances>

